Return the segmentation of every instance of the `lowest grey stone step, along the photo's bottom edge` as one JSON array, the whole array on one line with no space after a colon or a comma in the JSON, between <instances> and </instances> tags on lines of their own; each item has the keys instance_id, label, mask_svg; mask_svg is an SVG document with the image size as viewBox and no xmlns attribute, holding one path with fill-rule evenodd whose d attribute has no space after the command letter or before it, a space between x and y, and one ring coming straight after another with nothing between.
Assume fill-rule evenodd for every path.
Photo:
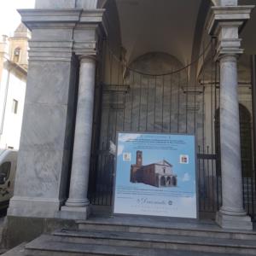
<instances>
[{"instance_id":1,"label":"lowest grey stone step, along the photo's bottom edge","mask_svg":"<svg viewBox=\"0 0 256 256\"><path fill-rule=\"evenodd\" d=\"M20 256L238 256L241 254L203 253L184 250L124 247L58 241L57 236L40 236L26 245ZM244 254L246 255L246 254Z\"/></svg>"}]
</instances>

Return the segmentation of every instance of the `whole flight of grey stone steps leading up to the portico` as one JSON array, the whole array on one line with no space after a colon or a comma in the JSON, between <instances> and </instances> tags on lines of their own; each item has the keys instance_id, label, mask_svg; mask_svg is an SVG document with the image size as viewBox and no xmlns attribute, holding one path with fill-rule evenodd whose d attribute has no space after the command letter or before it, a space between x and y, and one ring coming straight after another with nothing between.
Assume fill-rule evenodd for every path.
<instances>
[{"instance_id":1,"label":"whole flight of grey stone steps leading up to the portico","mask_svg":"<svg viewBox=\"0 0 256 256\"><path fill-rule=\"evenodd\" d=\"M6 256L256 255L256 232L173 218L90 218L79 230L40 236L14 253Z\"/></svg>"}]
</instances>

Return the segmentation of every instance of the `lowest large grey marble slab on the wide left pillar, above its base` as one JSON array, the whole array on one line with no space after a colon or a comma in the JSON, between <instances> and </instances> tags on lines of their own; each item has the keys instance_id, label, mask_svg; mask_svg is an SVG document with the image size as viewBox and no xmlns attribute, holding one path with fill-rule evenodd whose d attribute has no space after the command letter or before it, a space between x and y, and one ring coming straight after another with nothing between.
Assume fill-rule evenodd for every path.
<instances>
[{"instance_id":1,"label":"lowest large grey marble slab on the wide left pillar, above its base","mask_svg":"<svg viewBox=\"0 0 256 256\"><path fill-rule=\"evenodd\" d=\"M34 146L19 152L15 196L58 200L62 150Z\"/></svg>"}]
</instances>

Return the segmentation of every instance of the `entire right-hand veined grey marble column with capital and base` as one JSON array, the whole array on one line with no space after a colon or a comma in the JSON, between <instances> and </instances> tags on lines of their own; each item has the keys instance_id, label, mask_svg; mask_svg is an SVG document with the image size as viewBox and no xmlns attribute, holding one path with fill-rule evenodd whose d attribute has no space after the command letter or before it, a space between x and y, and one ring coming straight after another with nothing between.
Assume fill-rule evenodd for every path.
<instances>
[{"instance_id":1,"label":"entire right-hand veined grey marble column with capital and base","mask_svg":"<svg viewBox=\"0 0 256 256\"><path fill-rule=\"evenodd\" d=\"M237 1L219 2L222 6L212 8L208 26L209 33L218 38L216 60L220 62L223 204L217 212L216 222L224 229L252 230L251 218L243 208L237 58L243 53L239 30L250 18L253 6L237 6Z\"/></svg>"}]
</instances>

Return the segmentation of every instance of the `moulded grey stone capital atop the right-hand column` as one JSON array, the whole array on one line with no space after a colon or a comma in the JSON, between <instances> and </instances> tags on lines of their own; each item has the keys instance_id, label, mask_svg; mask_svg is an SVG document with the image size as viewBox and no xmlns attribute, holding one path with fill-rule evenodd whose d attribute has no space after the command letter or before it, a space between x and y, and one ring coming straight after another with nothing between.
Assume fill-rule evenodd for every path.
<instances>
[{"instance_id":1,"label":"moulded grey stone capital atop the right-hand column","mask_svg":"<svg viewBox=\"0 0 256 256\"><path fill-rule=\"evenodd\" d=\"M239 33L244 23L250 19L253 5L214 6L207 20L207 31L218 38L218 60L222 55L241 55L241 39Z\"/></svg>"}]
</instances>

